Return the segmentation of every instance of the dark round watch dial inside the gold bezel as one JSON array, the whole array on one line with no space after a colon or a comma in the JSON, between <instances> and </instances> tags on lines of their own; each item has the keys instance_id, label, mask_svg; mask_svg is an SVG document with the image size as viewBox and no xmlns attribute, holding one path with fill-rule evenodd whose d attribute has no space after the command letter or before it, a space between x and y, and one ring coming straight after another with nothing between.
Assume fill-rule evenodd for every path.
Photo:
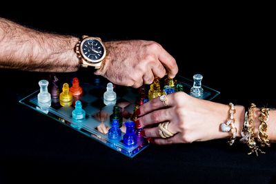
<instances>
[{"instance_id":1,"label":"dark round watch dial inside the gold bezel","mask_svg":"<svg viewBox=\"0 0 276 184\"><path fill-rule=\"evenodd\" d=\"M88 39L83 42L83 54L95 61L103 57L103 45L96 39Z\"/></svg>"}]
</instances>

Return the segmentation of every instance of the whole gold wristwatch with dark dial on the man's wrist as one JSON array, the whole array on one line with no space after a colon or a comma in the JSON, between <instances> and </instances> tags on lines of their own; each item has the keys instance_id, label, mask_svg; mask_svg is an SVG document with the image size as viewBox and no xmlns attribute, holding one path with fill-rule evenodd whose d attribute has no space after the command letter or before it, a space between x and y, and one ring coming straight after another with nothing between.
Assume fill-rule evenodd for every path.
<instances>
[{"instance_id":1,"label":"whole gold wristwatch with dark dial on the man's wrist","mask_svg":"<svg viewBox=\"0 0 276 184\"><path fill-rule=\"evenodd\" d=\"M75 47L77 57L81 62L82 67L94 67L95 69L101 68L101 63L106 57L106 47L98 37L82 36Z\"/></svg>"}]
</instances>

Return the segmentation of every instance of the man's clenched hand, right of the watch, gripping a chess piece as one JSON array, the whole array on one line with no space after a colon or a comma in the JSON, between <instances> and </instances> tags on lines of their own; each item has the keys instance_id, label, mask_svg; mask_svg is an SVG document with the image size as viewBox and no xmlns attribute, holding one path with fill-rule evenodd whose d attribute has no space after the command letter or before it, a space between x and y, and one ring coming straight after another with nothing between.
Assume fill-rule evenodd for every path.
<instances>
[{"instance_id":1,"label":"man's clenched hand, right of the watch, gripping a chess piece","mask_svg":"<svg viewBox=\"0 0 276 184\"><path fill-rule=\"evenodd\" d=\"M106 42L106 59L95 74L118 85L139 88L150 84L155 76L170 78L178 72L175 59L154 41Z\"/></svg>"}]
</instances>

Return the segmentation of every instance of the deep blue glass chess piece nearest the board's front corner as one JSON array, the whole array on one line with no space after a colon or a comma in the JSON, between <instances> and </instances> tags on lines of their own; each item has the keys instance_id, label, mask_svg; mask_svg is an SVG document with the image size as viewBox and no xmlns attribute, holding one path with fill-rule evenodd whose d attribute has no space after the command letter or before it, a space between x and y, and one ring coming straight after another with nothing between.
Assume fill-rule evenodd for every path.
<instances>
[{"instance_id":1,"label":"deep blue glass chess piece nearest the board's front corner","mask_svg":"<svg viewBox=\"0 0 276 184\"><path fill-rule=\"evenodd\" d=\"M126 121L126 134L123 136L123 143L128 146L137 144L137 136L134 132L135 123L133 121Z\"/></svg>"}]
</instances>

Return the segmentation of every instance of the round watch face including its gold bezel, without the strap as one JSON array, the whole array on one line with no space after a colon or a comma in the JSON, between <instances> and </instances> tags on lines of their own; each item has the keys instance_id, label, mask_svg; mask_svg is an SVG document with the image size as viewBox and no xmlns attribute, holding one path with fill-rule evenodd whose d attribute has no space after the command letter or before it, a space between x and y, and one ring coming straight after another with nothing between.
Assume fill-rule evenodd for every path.
<instances>
[{"instance_id":1,"label":"round watch face including its gold bezel, without the strap","mask_svg":"<svg viewBox=\"0 0 276 184\"><path fill-rule=\"evenodd\" d=\"M106 52L103 43L97 38L87 38L81 43L81 53L90 62L97 63L103 59Z\"/></svg>"}]
</instances>

